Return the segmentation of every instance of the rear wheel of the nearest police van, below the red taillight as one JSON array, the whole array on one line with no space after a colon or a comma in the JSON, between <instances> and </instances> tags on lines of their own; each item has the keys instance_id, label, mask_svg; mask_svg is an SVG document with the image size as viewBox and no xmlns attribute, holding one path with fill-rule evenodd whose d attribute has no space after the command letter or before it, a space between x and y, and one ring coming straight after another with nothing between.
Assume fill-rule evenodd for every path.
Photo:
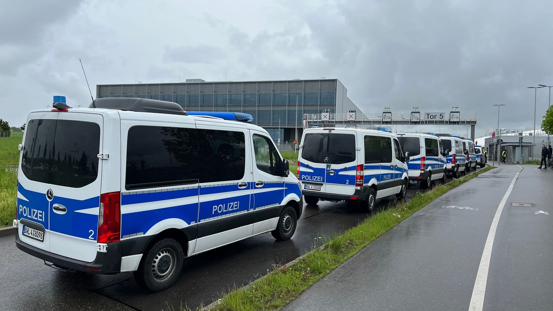
<instances>
[{"instance_id":1,"label":"rear wheel of the nearest police van, below the red taillight","mask_svg":"<svg viewBox=\"0 0 553 311\"><path fill-rule=\"evenodd\" d=\"M134 279L140 287L149 291L163 291L179 278L183 259L184 253L178 241L170 238L159 240L144 253L137 271L133 272ZM160 273L168 275L161 276Z\"/></svg>"}]
</instances>

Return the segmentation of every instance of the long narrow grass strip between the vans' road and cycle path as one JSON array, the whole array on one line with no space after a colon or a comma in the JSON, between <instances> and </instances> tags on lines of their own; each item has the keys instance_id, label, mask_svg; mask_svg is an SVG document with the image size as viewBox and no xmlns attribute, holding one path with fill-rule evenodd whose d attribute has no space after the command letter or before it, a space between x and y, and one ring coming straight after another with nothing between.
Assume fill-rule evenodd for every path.
<instances>
[{"instance_id":1,"label":"long narrow grass strip between the vans' road and cycle path","mask_svg":"<svg viewBox=\"0 0 553 311\"><path fill-rule=\"evenodd\" d=\"M409 203L400 202L393 208L375 213L341 235L317 239L312 251L294 265L287 268L274 266L273 271L269 272L266 277L249 284L247 288L235 286L229 289L228 293L222 294L221 303L212 310L280 310L305 289L415 211L420 210L447 191L491 169L493 168L486 167L447 184L437 185L426 193L417 194ZM169 310L175 309L169 307ZM180 310L190 309L181 306ZM201 307L197 310L201 310Z\"/></svg>"}]
</instances>

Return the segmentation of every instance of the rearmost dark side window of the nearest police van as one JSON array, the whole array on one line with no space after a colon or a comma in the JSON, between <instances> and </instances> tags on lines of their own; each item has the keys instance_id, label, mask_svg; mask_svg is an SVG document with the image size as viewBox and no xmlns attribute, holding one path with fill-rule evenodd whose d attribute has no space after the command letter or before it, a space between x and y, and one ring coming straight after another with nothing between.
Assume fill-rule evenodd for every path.
<instances>
[{"instance_id":1,"label":"rearmost dark side window of the nearest police van","mask_svg":"<svg viewBox=\"0 0 553 311\"><path fill-rule=\"evenodd\" d=\"M196 133L193 128L131 127L127 138L125 188L197 183Z\"/></svg>"}]
</instances>

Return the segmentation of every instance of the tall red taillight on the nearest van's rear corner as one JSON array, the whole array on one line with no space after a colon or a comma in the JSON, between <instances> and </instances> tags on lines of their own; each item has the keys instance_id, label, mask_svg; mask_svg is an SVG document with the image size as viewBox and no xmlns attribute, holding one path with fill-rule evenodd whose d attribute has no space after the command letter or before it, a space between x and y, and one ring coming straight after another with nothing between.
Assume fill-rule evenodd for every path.
<instances>
[{"instance_id":1,"label":"tall red taillight on the nearest van's rear corner","mask_svg":"<svg viewBox=\"0 0 553 311\"><path fill-rule=\"evenodd\" d=\"M121 193L100 195L98 215L98 243L119 241L121 237Z\"/></svg>"}]
</instances>

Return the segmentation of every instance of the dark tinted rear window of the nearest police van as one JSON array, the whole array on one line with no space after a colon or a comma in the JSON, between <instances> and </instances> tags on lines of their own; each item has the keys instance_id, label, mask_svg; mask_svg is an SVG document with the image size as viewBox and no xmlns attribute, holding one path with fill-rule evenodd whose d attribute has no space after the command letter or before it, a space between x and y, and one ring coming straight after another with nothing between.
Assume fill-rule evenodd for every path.
<instances>
[{"instance_id":1,"label":"dark tinted rear window of the nearest police van","mask_svg":"<svg viewBox=\"0 0 553 311\"><path fill-rule=\"evenodd\" d=\"M34 182L81 188L98 177L100 126L93 122L30 120L21 170Z\"/></svg>"}]
</instances>

